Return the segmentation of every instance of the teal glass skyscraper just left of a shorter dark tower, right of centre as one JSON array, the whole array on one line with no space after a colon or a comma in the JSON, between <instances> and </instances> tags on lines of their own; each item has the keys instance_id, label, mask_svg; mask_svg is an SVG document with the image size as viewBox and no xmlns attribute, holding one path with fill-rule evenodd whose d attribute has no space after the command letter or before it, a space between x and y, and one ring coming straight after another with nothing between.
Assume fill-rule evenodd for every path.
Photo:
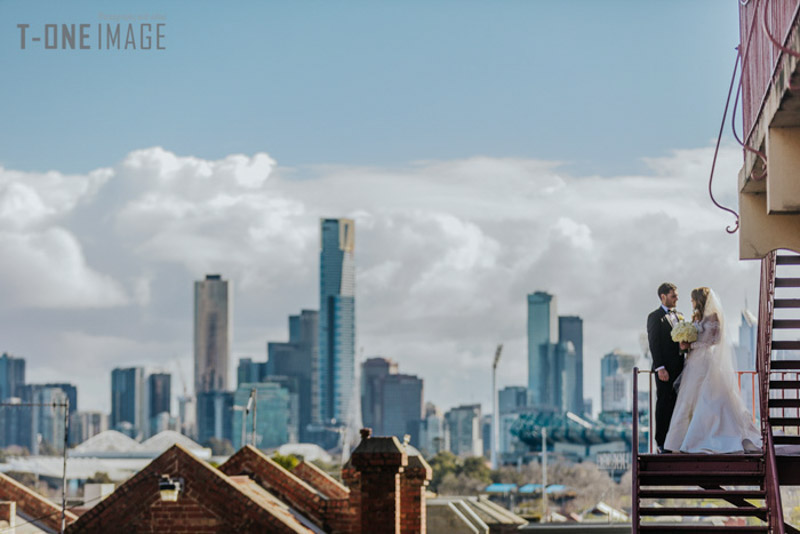
<instances>
[{"instance_id":1,"label":"teal glass skyscraper just left of a shorter dark tower, right of centre","mask_svg":"<svg viewBox=\"0 0 800 534\"><path fill-rule=\"evenodd\" d=\"M558 343L556 297L537 291L528 295L528 391L538 408L557 409L557 384L553 383ZM560 382L560 380L558 380Z\"/></svg>"}]
</instances>

